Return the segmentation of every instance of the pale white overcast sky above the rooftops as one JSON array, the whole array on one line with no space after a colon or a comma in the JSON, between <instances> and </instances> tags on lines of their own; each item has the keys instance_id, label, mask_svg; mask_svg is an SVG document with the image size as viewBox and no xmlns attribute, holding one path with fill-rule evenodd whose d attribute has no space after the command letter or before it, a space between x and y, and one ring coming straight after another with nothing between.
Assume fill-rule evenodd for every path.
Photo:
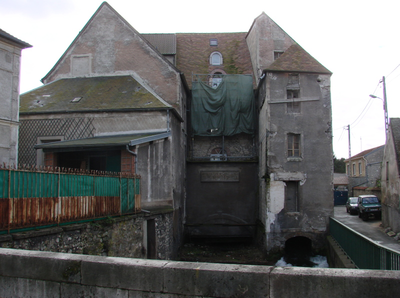
<instances>
[{"instance_id":1,"label":"pale white overcast sky above the rooftops","mask_svg":"<svg viewBox=\"0 0 400 298\"><path fill-rule=\"evenodd\" d=\"M382 84L389 117L400 117L400 1L108 0L141 33L244 32L264 11L332 74L333 151L348 157L384 144ZM39 87L101 0L0 0L0 28L33 45L22 51L20 92ZM251 6L249 5L251 3ZM369 102L369 103L368 103ZM358 117L359 116L359 117Z\"/></svg>"}]
</instances>

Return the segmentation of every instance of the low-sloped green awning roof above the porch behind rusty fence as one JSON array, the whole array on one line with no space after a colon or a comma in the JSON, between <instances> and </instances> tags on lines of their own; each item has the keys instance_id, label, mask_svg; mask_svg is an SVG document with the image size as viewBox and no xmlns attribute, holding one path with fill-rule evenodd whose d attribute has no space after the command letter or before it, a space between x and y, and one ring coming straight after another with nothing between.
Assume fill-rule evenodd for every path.
<instances>
[{"instance_id":1,"label":"low-sloped green awning roof above the porch behind rusty fence","mask_svg":"<svg viewBox=\"0 0 400 298\"><path fill-rule=\"evenodd\" d=\"M95 136L44 144L36 144L34 148L43 149L44 151L74 151L126 145L134 146L137 144L162 139L170 135L171 132L169 131L157 134Z\"/></svg>"}]
</instances>

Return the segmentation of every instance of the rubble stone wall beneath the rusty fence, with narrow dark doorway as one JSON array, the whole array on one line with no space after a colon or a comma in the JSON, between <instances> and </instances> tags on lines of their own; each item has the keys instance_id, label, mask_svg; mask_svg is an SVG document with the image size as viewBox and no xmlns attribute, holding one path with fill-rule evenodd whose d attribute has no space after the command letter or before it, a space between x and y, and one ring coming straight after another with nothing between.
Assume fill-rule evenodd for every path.
<instances>
[{"instance_id":1,"label":"rubble stone wall beneath the rusty fence, with narrow dark doorway","mask_svg":"<svg viewBox=\"0 0 400 298\"><path fill-rule=\"evenodd\" d=\"M155 220L157 259L173 255L172 212L140 213L85 223L0 235L0 247L76 254L147 257L146 225Z\"/></svg>"}]
</instances>

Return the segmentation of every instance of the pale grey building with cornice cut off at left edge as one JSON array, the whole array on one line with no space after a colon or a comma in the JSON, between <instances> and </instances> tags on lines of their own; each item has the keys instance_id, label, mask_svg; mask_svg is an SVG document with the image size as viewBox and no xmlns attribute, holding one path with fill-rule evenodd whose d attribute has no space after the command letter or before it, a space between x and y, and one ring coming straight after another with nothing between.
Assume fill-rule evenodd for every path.
<instances>
[{"instance_id":1,"label":"pale grey building with cornice cut off at left edge","mask_svg":"<svg viewBox=\"0 0 400 298\"><path fill-rule=\"evenodd\" d=\"M17 165L21 51L32 47L0 29L0 163Z\"/></svg>"}]
</instances>

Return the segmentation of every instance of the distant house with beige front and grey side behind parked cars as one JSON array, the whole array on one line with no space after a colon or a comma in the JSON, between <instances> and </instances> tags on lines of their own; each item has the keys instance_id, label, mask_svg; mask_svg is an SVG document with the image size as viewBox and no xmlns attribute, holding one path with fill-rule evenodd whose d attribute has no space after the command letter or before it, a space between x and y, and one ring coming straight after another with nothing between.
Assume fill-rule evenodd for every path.
<instances>
[{"instance_id":1,"label":"distant house with beige front and grey side behind parked cars","mask_svg":"<svg viewBox=\"0 0 400 298\"><path fill-rule=\"evenodd\" d=\"M350 196L374 194L380 198L380 168L384 145L364 150L344 160Z\"/></svg>"}]
</instances>

